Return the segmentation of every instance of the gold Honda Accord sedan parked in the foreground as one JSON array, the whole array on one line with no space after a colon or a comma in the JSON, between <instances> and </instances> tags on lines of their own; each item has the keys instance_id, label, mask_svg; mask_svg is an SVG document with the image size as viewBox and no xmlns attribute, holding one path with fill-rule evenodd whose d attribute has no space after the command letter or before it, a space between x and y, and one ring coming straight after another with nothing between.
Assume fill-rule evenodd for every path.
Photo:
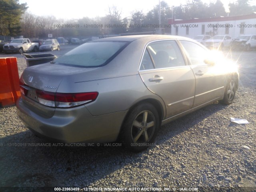
<instances>
[{"instance_id":1,"label":"gold Honda Accord sedan parked in the foreground","mask_svg":"<svg viewBox=\"0 0 256 192\"><path fill-rule=\"evenodd\" d=\"M87 42L20 78L18 116L65 143L150 146L161 125L219 100L231 104L237 68L198 42L143 35Z\"/></svg>"}]
</instances>

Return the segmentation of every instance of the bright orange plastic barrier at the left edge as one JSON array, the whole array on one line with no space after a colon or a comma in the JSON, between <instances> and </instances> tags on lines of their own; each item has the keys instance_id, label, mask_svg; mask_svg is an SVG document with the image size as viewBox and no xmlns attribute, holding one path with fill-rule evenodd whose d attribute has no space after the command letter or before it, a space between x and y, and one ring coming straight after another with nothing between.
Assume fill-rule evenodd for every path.
<instances>
[{"instance_id":1,"label":"bright orange plastic barrier at the left edge","mask_svg":"<svg viewBox=\"0 0 256 192\"><path fill-rule=\"evenodd\" d=\"M0 106L14 106L19 97L17 58L0 58Z\"/></svg>"}]
</instances>

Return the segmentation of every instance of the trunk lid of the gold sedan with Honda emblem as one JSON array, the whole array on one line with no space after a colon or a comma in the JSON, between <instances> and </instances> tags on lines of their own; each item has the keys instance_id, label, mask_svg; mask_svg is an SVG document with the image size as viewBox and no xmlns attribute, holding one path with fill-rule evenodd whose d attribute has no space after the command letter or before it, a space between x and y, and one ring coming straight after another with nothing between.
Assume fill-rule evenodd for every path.
<instances>
[{"instance_id":1,"label":"trunk lid of the gold sedan with Honda emblem","mask_svg":"<svg viewBox=\"0 0 256 192\"><path fill-rule=\"evenodd\" d=\"M72 81L72 76L94 69L50 63L28 67L20 78L22 99L36 114L51 117L55 111L54 97L61 82L64 79L65 82L67 79Z\"/></svg>"}]
</instances>

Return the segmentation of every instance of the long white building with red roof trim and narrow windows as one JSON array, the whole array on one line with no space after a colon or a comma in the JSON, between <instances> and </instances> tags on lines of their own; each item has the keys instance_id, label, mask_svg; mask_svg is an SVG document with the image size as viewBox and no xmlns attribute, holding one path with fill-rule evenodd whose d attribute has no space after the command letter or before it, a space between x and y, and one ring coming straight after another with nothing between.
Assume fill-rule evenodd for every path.
<instances>
[{"instance_id":1,"label":"long white building with red roof trim and narrow windows","mask_svg":"<svg viewBox=\"0 0 256 192\"><path fill-rule=\"evenodd\" d=\"M244 34L256 34L256 13L208 19L169 19L171 35L193 38L196 35L229 35L236 38Z\"/></svg>"}]
</instances>

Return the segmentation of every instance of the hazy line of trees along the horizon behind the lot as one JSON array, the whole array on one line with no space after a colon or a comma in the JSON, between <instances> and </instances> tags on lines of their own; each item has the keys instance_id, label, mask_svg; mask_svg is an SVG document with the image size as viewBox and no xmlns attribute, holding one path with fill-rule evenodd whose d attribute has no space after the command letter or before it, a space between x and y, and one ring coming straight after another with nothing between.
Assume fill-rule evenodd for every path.
<instances>
[{"instance_id":1,"label":"hazy line of trees along the horizon behind the lot","mask_svg":"<svg viewBox=\"0 0 256 192\"><path fill-rule=\"evenodd\" d=\"M159 5L147 13L134 10L131 16L122 18L122 10L109 7L104 17L64 20L55 16L36 16L27 11L27 4L19 4L19 0L0 0L0 35L24 37L58 36L107 36L111 34L153 32L159 27ZM203 3L201 0L188 0L184 5L170 6L165 1L160 3L161 24L170 32L168 18L189 20L192 18L212 18L219 16L235 16L256 12L256 6L250 0L237 0L229 4L229 13L225 11L220 0ZM158 26L158 27L156 27ZM160 28L162 28L160 26Z\"/></svg>"}]
</instances>

